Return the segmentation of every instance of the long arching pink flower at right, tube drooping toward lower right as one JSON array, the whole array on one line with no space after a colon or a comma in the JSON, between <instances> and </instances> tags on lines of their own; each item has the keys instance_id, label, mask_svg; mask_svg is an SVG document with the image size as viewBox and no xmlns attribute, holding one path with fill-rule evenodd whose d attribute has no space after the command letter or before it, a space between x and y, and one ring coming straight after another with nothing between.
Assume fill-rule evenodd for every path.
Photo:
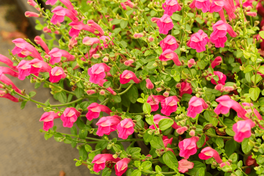
<instances>
[{"instance_id":1,"label":"long arching pink flower at right, tube drooping toward lower right","mask_svg":"<svg viewBox=\"0 0 264 176\"><path fill-rule=\"evenodd\" d=\"M214 109L216 114L227 114L230 108L232 108L241 118L247 118L245 117L245 112L243 111L242 106L235 100L231 99L228 95L223 95L215 100L219 102L218 106Z\"/></svg>"}]
</instances>

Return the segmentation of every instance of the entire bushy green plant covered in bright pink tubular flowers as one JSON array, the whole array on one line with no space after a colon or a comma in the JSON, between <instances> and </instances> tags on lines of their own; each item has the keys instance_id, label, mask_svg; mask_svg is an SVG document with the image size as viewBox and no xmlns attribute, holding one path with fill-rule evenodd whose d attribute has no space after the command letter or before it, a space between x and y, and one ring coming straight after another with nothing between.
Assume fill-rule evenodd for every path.
<instances>
[{"instance_id":1,"label":"entire bushy green plant covered in bright pink tubular flowers","mask_svg":"<svg viewBox=\"0 0 264 176\"><path fill-rule=\"evenodd\" d=\"M28 3L45 35L13 40L14 62L0 55L9 66L0 97L43 108L40 132L76 147L76 166L103 176L264 175L263 1ZM50 88L62 104L35 101L6 75ZM70 134L56 131L57 118Z\"/></svg>"}]
</instances>

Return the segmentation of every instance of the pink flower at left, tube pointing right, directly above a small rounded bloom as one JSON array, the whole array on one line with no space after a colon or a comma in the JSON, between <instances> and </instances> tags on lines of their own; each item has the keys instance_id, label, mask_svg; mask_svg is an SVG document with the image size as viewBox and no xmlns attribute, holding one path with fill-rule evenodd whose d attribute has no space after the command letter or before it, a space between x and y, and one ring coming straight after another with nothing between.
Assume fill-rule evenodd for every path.
<instances>
[{"instance_id":1,"label":"pink flower at left, tube pointing right, directly above a small rounded bloom","mask_svg":"<svg viewBox=\"0 0 264 176\"><path fill-rule=\"evenodd\" d=\"M51 65L54 65L55 63L59 63L62 59L62 57L67 58L66 61L72 61L75 59L74 55L71 55L68 51L61 50L59 48L53 48L50 52L50 61L49 63Z\"/></svg>"}]
</instances>

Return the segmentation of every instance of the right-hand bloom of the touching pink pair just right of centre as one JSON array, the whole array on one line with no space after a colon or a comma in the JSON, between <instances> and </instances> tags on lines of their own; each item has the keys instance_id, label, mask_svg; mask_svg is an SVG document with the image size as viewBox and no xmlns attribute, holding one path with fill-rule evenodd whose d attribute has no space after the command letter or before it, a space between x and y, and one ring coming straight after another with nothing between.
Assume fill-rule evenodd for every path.
<instances>
[{"instance_id":1,"label":"right-hand bloom of the touching pink pair just right of centre","mask_svg":"<svg viewBox=\"0 0 264 176\"><path fill-rule=\"evenodd\" d=\"M171 115L172 112L175 112L178 108L177 102L179 99L176 96L166 97L161 101L161 113L166 116Z\"/></svg>"}]
</instances>

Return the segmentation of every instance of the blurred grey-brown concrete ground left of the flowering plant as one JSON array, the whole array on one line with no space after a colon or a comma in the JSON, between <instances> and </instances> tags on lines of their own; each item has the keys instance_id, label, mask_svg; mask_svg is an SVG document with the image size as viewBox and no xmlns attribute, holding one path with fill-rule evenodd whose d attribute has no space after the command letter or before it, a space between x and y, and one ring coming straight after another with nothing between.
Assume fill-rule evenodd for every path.
<instances>
[{"instance_id":1,"label":"blurred grey-brown concrete ground left of the flowering plant","mask_svg":"<svg viewBox=\"0 0 264 176\"><path fill-rule=\"evenodd\" d=\"M14 4L5 4L1 1L0 54L11 58L8 49L12 50L15 45L11 39L6 38L6 34L8 34L6 32L16 31L17 25L7 22L5 16L10 9L14 10L16 7ZM18 11L16 12L18 13ZM0 63L0 66L6 65ZM45 102L50 98L51 104L58 103L54 101L48 88L41 86L34 89L34 84L31 84L28 79L24 81L13 77L10 79L18 88L26 89L26 93L36 91L35 100ZM73 149L70 144L56 142L53 138L46 141L44 133L39 132L39 129L43 127L43 122L39 122L44 113L43 109L37 108L36 104L32 102L27 102L23 110L20 110L20 105L21 103L0 98L0 176L59 176L60 170L71 176L90 175L85 166L75 166L73 159L79 158L76 148ZM70 133L69 128L62 126L60 119L55 119L54 125L58 127L58 132Z\"/></svg>"}]
</instances>

